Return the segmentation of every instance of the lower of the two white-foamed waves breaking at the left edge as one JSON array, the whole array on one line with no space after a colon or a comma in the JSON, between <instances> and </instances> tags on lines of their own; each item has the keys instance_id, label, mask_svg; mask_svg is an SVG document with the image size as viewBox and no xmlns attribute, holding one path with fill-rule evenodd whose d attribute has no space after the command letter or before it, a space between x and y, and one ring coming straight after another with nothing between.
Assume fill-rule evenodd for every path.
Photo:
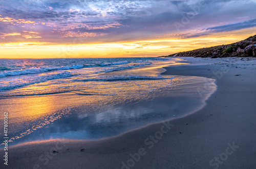
<instances>
[{"instance_id":1,"label":"lower of the two white-foamed waves breaking at the left edge","mask_svg":"<svg viewBox=\"0 0 256 169\"><path fill-rule=\"evenodd\" d=\"M33 81L33 82L25 82L25 83L19 83L19 84L12 84L10 86L7 87L0 87L0 91L3 90L12 90L18 87L24 87L24 86L28 86L28 85L32 85L32 84L37 84L37 83L42 83L42 82L46 82L49 80L55 80L55 79L61 79L61 78L69 78L75 75L72 75L71 73L64 72L64 73L59 73L59 74L53 74L53 75L48 75L48 76L41 76L39 77L39 79Z\"/></svg>"}]
</instances>

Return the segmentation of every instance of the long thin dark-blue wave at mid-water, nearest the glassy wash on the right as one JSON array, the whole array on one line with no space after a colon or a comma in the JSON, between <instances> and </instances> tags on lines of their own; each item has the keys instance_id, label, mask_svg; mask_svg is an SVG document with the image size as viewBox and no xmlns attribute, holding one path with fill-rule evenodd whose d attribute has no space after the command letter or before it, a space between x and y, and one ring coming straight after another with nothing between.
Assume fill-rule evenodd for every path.
<instances>
[{"instance_id":1,"label":"long thin dark-blue wave at mid-water, nearest the glassy wash on the right","mask_svg":"<svg viewBox=\"0 0 256 169\"><path fill-rule=\"evenodd\" d=\"M162 76L100 76L98 78L89 78L89 79L75 79L73 81L130 81L130 80L163 80L163 79L174 79L166 78Z\"/></svg>"}]
</instances>

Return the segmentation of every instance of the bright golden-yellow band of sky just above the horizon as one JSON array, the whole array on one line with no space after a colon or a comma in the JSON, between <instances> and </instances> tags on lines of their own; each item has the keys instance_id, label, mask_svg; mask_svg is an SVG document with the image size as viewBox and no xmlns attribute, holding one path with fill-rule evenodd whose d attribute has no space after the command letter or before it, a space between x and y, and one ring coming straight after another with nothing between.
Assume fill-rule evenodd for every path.
<instances>
[{"instance_id":1,"label":"bright golden-yellow band of sky just above the horizon","mask_svg":"<svg viewBox=\"0 0 256 169\"><path fill-rule=\"evenodd\" d=\"M250 28L188 39L165 38L91 44L0 43L0 58L157 57L202 47L229 44L255 34L255 29Z\"/></svg>"}]
</instances>

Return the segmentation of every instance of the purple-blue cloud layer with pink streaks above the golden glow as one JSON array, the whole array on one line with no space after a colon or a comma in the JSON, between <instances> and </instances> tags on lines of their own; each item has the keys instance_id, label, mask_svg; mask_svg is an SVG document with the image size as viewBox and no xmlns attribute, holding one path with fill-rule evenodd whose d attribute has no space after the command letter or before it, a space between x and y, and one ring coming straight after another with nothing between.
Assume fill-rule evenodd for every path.
<instances>
[{"instance_id":1,"label":"purple-blue cloud layer with pink streaks above the golden glow","mask_svg":"<svg viewBox=\"0 0 256 169\"><path fill-rule=\"evenodd\" d=\"M200 3L203 6L200 7ZM194 17L180 29L177 36L182 38L250 28L255 25L256 2L9 0L0 2L0 6L0 23L5 23L0 24L1 32L32 31L39 34L26 34L28 39L41 37L51 42L69 43L69 37L122 41L174 36L178 32L174 23L188 15Z\"/></svg>"}]
</instances>

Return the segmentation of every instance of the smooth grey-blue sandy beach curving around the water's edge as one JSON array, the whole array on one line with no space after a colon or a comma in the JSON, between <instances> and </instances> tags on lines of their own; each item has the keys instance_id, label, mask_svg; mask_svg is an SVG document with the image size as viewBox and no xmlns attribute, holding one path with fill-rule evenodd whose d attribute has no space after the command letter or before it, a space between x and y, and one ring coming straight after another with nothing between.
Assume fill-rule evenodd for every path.
<instances>
[{"instance_id":1,"label":"smooth grey-blue sandy beach curving around the water's edge","mask_svg":"<svg viewBox=\"0 0 256 169\"><path fill-rule=\"evenodd\" d=\"M183 59L162 75L216 80L199 111L107 139L17 144L8 168L255 168L256 59Z\"/></svg>"}]
</instances>

